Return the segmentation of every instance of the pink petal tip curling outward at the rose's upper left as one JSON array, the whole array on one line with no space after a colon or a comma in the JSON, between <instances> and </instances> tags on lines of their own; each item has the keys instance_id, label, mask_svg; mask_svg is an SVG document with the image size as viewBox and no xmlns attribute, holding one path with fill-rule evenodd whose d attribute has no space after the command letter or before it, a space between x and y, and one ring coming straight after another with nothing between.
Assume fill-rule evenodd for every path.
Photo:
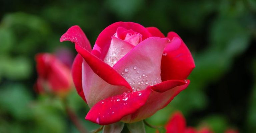
<instances>
[{"instance_id":1,"label":"pink petal tip curling outward at the rose's upper left","mask_svg":"<svg viewBox=\"0 0 256 133\"><path fill-rule=\"evenodd\" d=\"M92 47L86 35L79 26L72 26L60 37L60 42L71 41L91 52Z\"/></svg>"}]
</instances>

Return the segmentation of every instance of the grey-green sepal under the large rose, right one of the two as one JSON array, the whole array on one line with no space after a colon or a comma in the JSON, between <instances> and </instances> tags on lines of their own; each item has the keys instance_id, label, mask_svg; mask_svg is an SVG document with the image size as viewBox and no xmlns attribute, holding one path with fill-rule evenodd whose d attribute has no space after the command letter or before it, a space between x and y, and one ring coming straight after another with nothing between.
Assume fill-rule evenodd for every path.
<instances>
[{"instance_id":1,"label":"grey-green sepal under the large rose, right one of the two","mask_svg":"<svg viewBox=\"0 0 256 133\"><path fill-rule=\"evenodd\" d=\"M128 123L127 127L131 133L146 133L143 121Z\"/></svg>"}]
</instances>

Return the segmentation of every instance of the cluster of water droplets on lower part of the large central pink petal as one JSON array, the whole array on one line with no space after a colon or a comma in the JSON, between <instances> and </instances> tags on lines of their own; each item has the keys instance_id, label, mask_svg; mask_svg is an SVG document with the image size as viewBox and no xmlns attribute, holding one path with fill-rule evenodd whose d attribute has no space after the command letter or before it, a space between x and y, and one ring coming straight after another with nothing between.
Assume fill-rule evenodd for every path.
<instances>
[{"instance_id":1,"label":"cluster of water droplets on lower part of the large central pink petal","mask_svg":"<svg viewBox=\"0 0 256 133\"><path fill-rule=\"evenodd\" d=\"M133 89L133 92L146 89L147 86L152 86L161 82L160 78L148 77L144 70L139 70L135 65L132 68L126 67L121 75L128 81Z\"/></svg>"}]
</instances>

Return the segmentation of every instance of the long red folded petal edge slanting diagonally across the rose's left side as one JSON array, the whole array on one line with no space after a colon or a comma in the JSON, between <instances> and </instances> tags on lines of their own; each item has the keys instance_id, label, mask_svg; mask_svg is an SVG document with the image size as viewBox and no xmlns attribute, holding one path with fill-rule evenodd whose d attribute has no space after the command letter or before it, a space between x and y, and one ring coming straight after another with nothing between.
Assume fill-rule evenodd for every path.
<instances>
[{"instance_id":1,"label":"long red folded petal edge slanting diagonally across the rose's left side","mask_svg":"<svg viewBox=\"0 0 256 133\"><path fill-rule=\"evenodd\" d=\"M109 66L87 50L83 49L79 45L75 45L75 49L79 54L83 56L84 60L86 61L86 63L88 63L93 72L100 76L107 83L111 85L125 86L128 89L132 90L128 82L111 66Z\"/></svg>"}]
</instances>

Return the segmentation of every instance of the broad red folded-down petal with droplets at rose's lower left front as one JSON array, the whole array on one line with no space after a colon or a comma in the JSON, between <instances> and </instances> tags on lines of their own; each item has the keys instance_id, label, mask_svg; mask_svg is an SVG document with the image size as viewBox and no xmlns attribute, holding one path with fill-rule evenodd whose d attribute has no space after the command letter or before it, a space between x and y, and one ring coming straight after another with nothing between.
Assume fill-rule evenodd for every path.
<instances>
[{"instance_id":1,"label":"broad red folded-down petal with droplets at rose's lower left front","mask_svg":"<svg viewBox=\"0 0 256 133\"><path fill-rule=\"evenodd\" d=\"M101 100L91 108L85 119L100 125L118 122L143 106L151 92L148 87L143 91L124 93Z\"/></svg>"}]
</instances>

